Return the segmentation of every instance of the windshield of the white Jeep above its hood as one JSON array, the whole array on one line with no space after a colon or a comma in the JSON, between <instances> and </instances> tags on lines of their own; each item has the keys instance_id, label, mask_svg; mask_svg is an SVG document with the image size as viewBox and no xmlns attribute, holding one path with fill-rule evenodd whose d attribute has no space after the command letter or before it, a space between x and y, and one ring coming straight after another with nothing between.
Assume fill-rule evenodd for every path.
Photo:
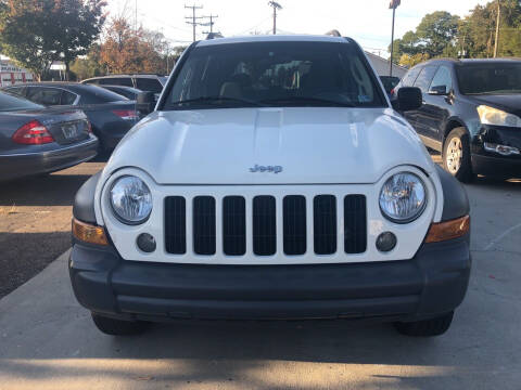
<instances>
[{"instance_id":1,"label":"windshield of the white Jeep above its hood","mask_svg":"<svg viewBox=\"0 0 521 390\"><path fill-rule=\"evenodd\" d=\"M382 107L361 52L343 42L247 42L193 49L163 109Z\"/></svg>"}]
</instances>

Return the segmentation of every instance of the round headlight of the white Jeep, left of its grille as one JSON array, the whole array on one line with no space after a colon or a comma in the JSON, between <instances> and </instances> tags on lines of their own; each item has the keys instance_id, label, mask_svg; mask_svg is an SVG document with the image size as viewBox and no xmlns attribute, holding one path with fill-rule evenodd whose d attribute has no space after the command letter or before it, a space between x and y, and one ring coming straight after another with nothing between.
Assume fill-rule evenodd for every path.
<instances>
[{"instance_id":1,"label":"round headlight of the white Jeep, left of its grille","mask_svg":"<svg viewBox=\"0 0 521 390\"><path fill-rule=\"evenodd\" d=\"M112 185L111 205L120 222L140 224L147 221L152 212L152 194L141 179L125 176Z\"/></svg>"}]
</instances>

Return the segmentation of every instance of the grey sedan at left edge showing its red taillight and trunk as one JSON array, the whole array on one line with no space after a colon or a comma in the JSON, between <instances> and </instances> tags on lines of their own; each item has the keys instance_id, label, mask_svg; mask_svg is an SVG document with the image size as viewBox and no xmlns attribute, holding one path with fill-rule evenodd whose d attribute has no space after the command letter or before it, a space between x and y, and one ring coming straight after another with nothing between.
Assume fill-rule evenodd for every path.
<instances>
[{"instance_id":1,"label":"grey sedan at left edge showing its red taillight and trunk","mask_svg":"<svg viewBox=\"0 0 521 390\"><path fill-rule=\"evenodd\" d=\"M97 150L81 110L46 108L0 92L0 180L65 169L91 159Z\"/></svg>"}]
</instances>

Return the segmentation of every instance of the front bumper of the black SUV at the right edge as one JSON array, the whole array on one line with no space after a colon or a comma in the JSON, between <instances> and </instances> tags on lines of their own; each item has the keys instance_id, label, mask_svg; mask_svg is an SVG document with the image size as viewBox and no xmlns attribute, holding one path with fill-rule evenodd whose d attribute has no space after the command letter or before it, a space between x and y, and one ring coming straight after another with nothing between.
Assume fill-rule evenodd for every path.
<instances>
[{"instance_id":1,"label":"front bumper of the black SUV at the right edge","mask_svg":"<svg viewBox=\"0 0 521 390\"><path fill-rule=\"evenodd\" d=\"M503 156L484 150L484 143L517 147L521 151L521 129L483 125L471 143L474 173L501 178L521 178L521 155Z\"/></svg>"}]
</instances>

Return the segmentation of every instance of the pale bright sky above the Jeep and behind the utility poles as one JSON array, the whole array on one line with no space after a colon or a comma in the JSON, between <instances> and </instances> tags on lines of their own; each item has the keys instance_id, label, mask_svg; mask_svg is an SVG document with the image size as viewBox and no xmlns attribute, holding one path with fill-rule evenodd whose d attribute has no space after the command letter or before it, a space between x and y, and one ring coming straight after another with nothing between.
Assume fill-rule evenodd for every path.
<instances>
[{"instance_id":1,"label":"pale bright sky above the Jeep and behind the utility poles","mask_svg":"<svg viewBox=\"0 0 521 390\"><path fill-rule=\"evenodd\" d=\"M421 18L434 11L447 11L465 16L478 4L491 0L402 0L396 10L395 36L414 30ZM343 36L357 40L366 50L386 54L391 42L392 11L389 0L278 0L282 5L277 18L279 34L325 34L333 28ZM202 5L198 15L218 15L215 29L224 36L249 35L253 31L270 32L272 9L268 0L109 0L112 15L125 14L135 20L137 3L138 24L162 31L173 46L188 44L192 27L185 16L191 10L185 5ZM207 27L198 27L198 39L204 38Z\"/></svg>"}]
</instances>

